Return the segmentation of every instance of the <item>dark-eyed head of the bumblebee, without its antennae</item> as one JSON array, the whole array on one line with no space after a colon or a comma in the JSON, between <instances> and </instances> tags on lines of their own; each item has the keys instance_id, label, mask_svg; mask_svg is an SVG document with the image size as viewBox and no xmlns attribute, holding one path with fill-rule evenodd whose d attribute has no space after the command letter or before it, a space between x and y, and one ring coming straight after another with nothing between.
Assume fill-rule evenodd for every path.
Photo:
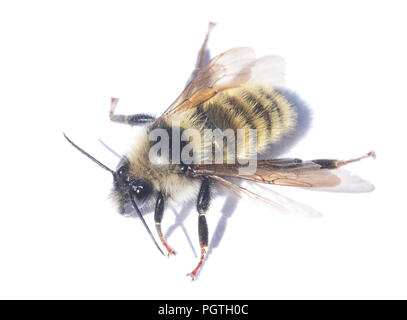
<instances>
[{"instance_id":1,"label":"dark-eyed head of the bumblebee, without its antennae","mask_svg":"<svg viewBox=\"0 0 407 320\"><path fill-rule=\"evenodd\" d=\"M142 208L154 193L153 185L146 179L134 176L130 172L130 163L123 158L113 174L113 198L119 204L120 213L133 211L134 204Z\"/></svg>"}]
</instances>

